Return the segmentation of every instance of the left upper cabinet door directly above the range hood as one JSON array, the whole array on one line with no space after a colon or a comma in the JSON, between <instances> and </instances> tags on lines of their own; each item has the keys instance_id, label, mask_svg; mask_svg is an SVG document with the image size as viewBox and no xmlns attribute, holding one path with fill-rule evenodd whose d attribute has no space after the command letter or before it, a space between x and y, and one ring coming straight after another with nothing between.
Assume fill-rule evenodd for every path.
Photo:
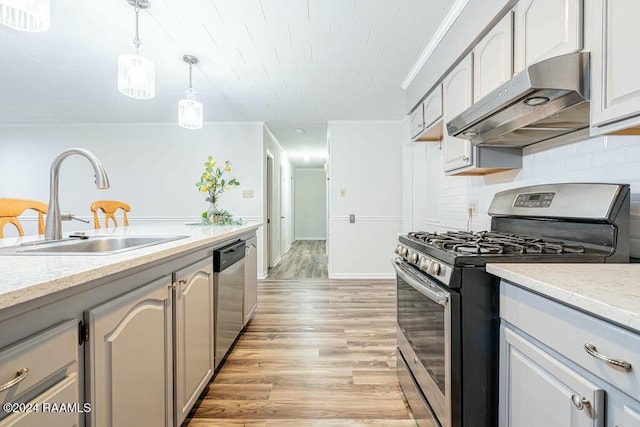
<instances>
[{"instance_id":1,"label":"left upper cabinet door directly above the range hood","mask_svg":"<svg viewBox=\"0 0 640 427\"><path fill-rule=\"evenodd\" d=\"M511 78L513 18L508 13L473 49L473 99L486 96Z\"/></svg>"}]
</instances>

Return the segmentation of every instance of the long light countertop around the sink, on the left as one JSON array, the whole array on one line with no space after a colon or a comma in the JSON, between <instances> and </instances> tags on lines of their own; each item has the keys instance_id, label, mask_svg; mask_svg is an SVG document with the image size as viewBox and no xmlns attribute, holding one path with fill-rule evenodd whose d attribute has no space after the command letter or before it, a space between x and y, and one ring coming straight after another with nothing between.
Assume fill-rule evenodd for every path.
<instances>
[{"instance_id":1,"label":"long light countertop around the sink, on the left","mask_svg":"<svg viewBox=\"0 0 640 427\"><path fill-rule=\"evenodd\" d=\"M91 235L181 235L174 240L112 255L10 255L0 256L0 309L11 307L94 279L214 244L255 230L256 221L240 226L201 227L176 223L153 223L129 227L86 230ZM0 248L43 240L43 236L0 239Z\"/></svg>"}]
</instances>

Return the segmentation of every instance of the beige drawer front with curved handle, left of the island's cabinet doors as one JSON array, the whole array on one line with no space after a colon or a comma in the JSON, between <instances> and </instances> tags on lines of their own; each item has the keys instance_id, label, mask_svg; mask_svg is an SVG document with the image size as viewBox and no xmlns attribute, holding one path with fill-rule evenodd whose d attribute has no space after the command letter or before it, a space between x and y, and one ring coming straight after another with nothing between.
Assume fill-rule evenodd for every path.
<instances>
[{"instance_id":1,"label":"beige drawer front with curved handle, left of the island's cabinet doors","mask_svg":"<svg viewBox=\"0 0 640 427\"><path fill-rule=\"evenodd\" d=\"M15 402L45 382L62 379L78 367L78 323L69 320L0 351L0 402ZM18 372L23 372L18 375ZM0 414L1 417L1 414Z\"/></svg>"}]
</instances>

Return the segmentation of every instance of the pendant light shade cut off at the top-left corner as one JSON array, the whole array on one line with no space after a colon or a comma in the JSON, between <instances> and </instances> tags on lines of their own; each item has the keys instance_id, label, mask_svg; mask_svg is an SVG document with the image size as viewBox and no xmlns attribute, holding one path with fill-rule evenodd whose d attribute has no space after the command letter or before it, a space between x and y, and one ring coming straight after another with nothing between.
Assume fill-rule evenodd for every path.
<instances>
[{"instance_id":1,"label":"pendant light shade cut off at the top-left corner","mask_svg":"<svg viewBox=\"0 0 640 427\"><path fill-rule=\"evenodd\" d=\"M41 33L51 27L51 0L0 0L0 24Z\"/></svg>"}]
</instances>

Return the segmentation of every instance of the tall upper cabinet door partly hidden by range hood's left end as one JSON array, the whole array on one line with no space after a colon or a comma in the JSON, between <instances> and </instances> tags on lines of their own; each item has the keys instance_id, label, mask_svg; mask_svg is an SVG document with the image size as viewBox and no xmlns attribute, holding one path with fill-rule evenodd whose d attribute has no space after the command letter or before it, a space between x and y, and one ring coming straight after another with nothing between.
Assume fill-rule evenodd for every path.
<instances>
[{"instance_id":1,"label":"tall upper cabinet door partly hidden by range hood's left end","mask_svg":"<svg viewBox=\"0 0 640 427\"><path fill-rule=\"evenodd\" d=\"M453 119L473 104L473 54L469 54L444 79L444 122ZM472 162L471 143L444 133L444 170L469 166Z\"/></svg>"}]
</instances>

